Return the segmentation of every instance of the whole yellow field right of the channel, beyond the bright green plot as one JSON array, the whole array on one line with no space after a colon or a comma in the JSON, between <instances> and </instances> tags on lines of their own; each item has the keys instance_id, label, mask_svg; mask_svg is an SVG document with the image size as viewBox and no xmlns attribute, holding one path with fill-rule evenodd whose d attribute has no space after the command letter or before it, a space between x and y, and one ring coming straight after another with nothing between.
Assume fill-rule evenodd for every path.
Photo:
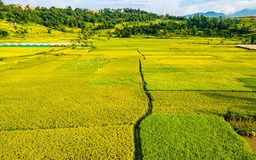
<instances>
[{"instance_id":1,"label":"whole yellow field right of the channel, beyond the bright green plot","mask_svg":"<svg viewBox=\"0 0 256 160\"><path fill-rule=\"evenodd\" d=\"M161 51L155 45L150 45L152 51L139 48L146 57L142 72L153 113L223 115L232 107L243 115L255 114L255 52L235 45L166 41L161 45L168 47Z\"/></svg>"}]
</instances>

